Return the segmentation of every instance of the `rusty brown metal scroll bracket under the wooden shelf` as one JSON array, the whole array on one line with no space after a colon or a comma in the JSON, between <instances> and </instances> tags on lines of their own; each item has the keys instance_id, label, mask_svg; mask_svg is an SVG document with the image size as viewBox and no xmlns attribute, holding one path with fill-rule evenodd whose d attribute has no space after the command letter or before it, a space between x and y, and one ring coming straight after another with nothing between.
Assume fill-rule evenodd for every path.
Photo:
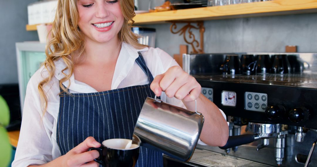
<instances>
[{"instance_id":1,"label":"rusty brown metal scroll bracket under the wooden shelf","mask_svg":"<svg viewBox=\"0 0 317 167\"><path fill-rule=\"evenodd\" d=\"M177 30L177 25L176 23L187 23L184 27L180 28ZM193 26L191 24L197 23L197 26ZM199 34L200 34L200 42L196 40L195 35L191 31L191 29L198 29ZM204 32L205 32L205 27L204 27L204 22L203 21L197 21L197 22L172 22L171 25L171 33L173 34L178 34L183 35L184 40L186 43L190 44L193 48L193 51L191 53L204 53ZM188 33L188 38L186 36L186 33Z\"/></svg>"}]
</instances>

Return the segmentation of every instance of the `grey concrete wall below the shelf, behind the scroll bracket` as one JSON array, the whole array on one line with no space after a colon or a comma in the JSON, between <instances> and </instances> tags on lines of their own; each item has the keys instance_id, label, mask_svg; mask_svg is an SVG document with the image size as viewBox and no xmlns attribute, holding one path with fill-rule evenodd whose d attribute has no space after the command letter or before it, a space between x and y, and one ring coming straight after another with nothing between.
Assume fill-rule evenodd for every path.
<instances>
[{"instance_id":1,"label":"grey concrete wall below the shelf, behind the scroll bracket","mask_svg":"<svg viewBox=\"0 0 317 167\"><path fill-rule=\"evenodd\" d=\"M186 43L183 36L171 34L170 25L142 26L156 28L156 46L172 56ZM317 14L211 20L204 26L206 53L285 52L286 45L297 45L298 52L317 52ZM194 34L199 39L198 31Z\"/></svg>"}]
</instances>

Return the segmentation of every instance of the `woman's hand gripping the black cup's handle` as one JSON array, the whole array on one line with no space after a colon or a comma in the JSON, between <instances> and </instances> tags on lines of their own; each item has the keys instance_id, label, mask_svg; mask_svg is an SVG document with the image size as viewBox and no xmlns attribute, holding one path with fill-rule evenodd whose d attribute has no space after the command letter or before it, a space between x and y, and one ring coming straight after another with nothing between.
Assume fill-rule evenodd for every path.
<instances>
[{"instance_id":1,"label":"woman's hand gripping the black cup's handle","mask_svg":"<svg viewBox=\"0 0 317 167\"><path fill-rule=\"evenodd\" d=\"M90 147L100 147L93 137L87 137L82 143L71 149L65 155L44 164L43 166L59 166L59 167L98 167L99 164L94 159L99 157L97 150L88 151ZM87 163L87 164L85 164ZM32 165L33 166L33 165ZM36 166L37 167L37 166Z\"/></svg>"}]
</instances>

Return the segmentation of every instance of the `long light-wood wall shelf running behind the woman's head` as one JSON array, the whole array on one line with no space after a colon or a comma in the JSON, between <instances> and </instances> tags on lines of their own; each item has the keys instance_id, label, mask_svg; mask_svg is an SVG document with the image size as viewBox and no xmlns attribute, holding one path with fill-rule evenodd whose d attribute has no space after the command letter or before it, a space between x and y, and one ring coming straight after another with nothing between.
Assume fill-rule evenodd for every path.
<instances>
[{"instance_id":1,"label":"long light-wood wall shelf running behind the woman's head","mask_svg":"<svg viewBox=\"0 0 317 167\"><path fill-rule=\"evenodd\" d=\"M137 14L133 20L135 24L155 24L169 21L201 21L300 13L317 13L317 0L273 0L141 13ZM36 30L34 25L27 25L26 28L28 31Z\"/></svg>"}]
</instances>

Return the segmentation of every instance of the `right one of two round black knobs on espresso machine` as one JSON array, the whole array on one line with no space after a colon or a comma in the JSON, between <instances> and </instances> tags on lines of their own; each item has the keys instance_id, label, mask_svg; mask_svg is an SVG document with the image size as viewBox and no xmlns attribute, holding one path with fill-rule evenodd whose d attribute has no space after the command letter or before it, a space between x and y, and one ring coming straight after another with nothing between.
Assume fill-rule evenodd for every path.
<instances>
[{"instance_id":1,"label":"right one of two round black knobs on espresso machine","mask_svg":"<svg viewBox=\"0 0 317 167\"><path fill-rule=\"evenodd\" d=\"M309 117L309 111L305 107L293 108L288 112L288 119L292 122L307 121Z\"/></svg>"}]
</instances>

